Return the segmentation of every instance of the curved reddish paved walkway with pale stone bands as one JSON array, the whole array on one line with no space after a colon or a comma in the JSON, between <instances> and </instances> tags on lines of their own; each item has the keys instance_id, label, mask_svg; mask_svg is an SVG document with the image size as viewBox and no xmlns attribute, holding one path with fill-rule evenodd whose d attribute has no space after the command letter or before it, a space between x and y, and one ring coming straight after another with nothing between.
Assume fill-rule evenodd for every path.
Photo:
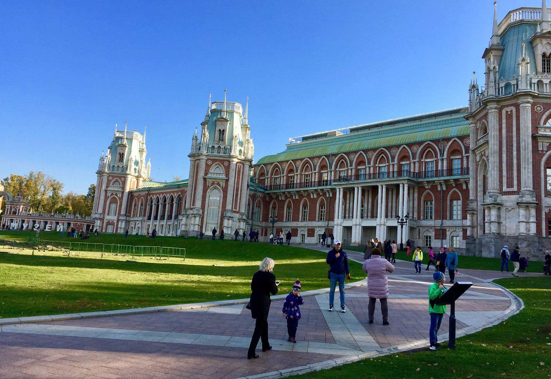
<instances>
[{"instance_id":1,"label":"curved reddish paved walkway with pale stone bands","mask_svg":"<svg viewBox=\"0 0 551 379\"><path fill-rule=\"evenodd\" d=\"M361 259L355 252L349 257ZM195 309L176 306L180 310L170 312L159 312L170 307L143 310L148 313L136 313L136 309L128 314L96 312L109 317L77 314L58 321L55 317L22 319L18 324L0 320L4 323L0 327L0 377L279 377L418 348L428 345L427 291L432 273L415 274L413 263L397 261L395 273L389 275L388 326L382 325L379 303L375 323L368 324L365 280L347 290L344 314L327 312L327 291L311 291L301 307L296 344L287 342L281 315L287 294L278 296L268 320L273 350L258 353L256 360L246 359L254 328L246 300L204 303L194 305ZM507 276L461 270L456 280L474 285L456 303L458 337L520 311L522 302L517 297L490 282ZM307 289L308 284L302 282L302 286ZM338 294L338 306L337 299ZM447 325L445 316L441 340L447 338Z\"/></svg>"}]
</instances>

